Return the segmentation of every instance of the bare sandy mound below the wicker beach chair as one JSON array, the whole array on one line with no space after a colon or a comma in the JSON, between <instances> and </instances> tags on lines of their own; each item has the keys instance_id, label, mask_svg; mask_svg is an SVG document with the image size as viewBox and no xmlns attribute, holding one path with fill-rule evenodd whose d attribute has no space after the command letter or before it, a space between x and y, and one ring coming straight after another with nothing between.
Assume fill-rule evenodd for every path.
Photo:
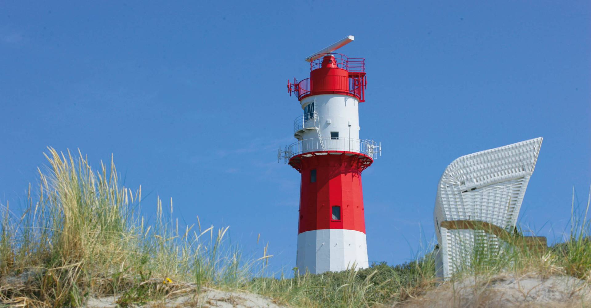
<instances>
[{"instance_id":1,"label":"bare sandy mound below the wicker beach chair","mask_svg":"<svg viewBox=\"0 0 591 308\"><path fill-rule=\"evenodd\" d=\"M591 287L568 276L536 274L465 278L441 284L395 307L590 307Z\"/></svg>"}]
</instances>

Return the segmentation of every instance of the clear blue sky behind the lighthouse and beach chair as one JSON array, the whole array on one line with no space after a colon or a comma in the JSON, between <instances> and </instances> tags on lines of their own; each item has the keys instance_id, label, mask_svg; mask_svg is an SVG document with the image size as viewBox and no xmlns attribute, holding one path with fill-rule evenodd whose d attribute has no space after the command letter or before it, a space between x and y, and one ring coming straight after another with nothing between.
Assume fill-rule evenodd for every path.
<instances>
[{"instance_id":1,"label":"clear blue sky behind the lighthouse and beach chair","mask_svg":"<svg viewBox=\"0 0 591 308\"><path fill-rule=\"evenodd\" d=\"M287 79L345 37L365 57L361 137L370 261L433 237L455 158L544 137L519 222L560 237L591 183L589 1L21 2L0 4L0 202L18 204L47 146L115 157L129 187L186 223L230 226L273 268L296 260L299 174L277 163L301 114ZM261 234L261 243L256 244Z\"/></svg>"}]
</instances>

